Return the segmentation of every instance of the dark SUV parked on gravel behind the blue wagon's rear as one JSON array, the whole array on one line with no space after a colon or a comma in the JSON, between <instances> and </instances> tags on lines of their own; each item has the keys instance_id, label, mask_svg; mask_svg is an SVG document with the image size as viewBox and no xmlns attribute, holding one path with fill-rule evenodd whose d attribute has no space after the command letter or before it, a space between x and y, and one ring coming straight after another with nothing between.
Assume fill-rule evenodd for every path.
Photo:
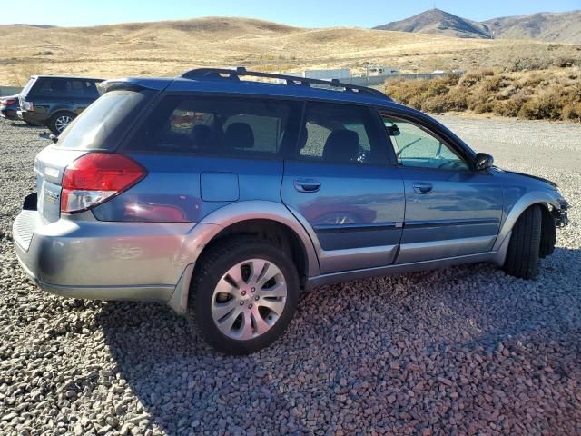
<instances>
[{"instance_id":1,"label":"dark SUV parked on gravel behind the blue wagon's rear","mask_svg":"<svg viewBox=\"0 0 581 436\"><path fill-rule=\"evenodd\" d=\"M20 94L18 117L28 124L45 125L58 135L99 98L96 84L103 79L33 75Z\"/></svg>"}]
</instances>

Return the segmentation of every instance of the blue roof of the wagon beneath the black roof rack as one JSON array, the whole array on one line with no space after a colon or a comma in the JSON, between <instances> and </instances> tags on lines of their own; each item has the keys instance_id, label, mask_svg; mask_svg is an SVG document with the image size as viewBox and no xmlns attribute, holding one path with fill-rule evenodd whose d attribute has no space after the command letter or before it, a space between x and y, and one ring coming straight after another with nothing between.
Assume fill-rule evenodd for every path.
<instances>
[{"instance_id":1,"label":"blue roof of the wagon beneath the black roof rack","mask_svg":"<svg viewBox=\"0 0 581 436\"><path fill-rule=\"evenodd\" d=\"M330 84L330 82L329 82ZM131 85L165 91L168 93L200 92L212 94L244 94L299 99L316 99L350 104L367 104L381 107L401 107L387 95L377 92L368 94L342 90L340 86L329 88L301 86L297 84L277 84L250 80L227 80L222 78L188 79L183 77L125 77L107 80L100 86L105 92ZM339 89L338 89L339 88Z\"/></svg>"}]
</instances>

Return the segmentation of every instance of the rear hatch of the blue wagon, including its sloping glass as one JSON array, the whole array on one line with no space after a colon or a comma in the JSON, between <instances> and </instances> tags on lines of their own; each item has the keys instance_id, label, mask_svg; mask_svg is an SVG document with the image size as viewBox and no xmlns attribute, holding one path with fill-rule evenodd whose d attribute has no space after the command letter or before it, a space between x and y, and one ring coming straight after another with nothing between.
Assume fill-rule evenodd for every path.
<instances>
[{"instance_id":1,"label":"rear hatch of the blue wagon, including its sloping glass","mask_svg":"<svg viewBox=\"0 0 581 436\"><path fill-rule=\"evenodd\" d=\"M84 154L112 154L152 95L152 91L144 89L115 90L103 94L74 119L56 144L44 148L36 156L37 209L44 222L54 223L61 216L66 168Z\"/></svg>"}]
</instances>

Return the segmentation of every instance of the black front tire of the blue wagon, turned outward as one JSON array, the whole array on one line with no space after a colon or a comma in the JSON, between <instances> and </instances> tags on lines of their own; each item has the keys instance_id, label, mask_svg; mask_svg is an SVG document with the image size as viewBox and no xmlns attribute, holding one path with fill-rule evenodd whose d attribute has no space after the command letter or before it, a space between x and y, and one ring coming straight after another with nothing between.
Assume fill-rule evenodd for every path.
<instances>
[{"instance_id":1,"label":"black front tire of the blue wagon, turned outward","mask_svg":"<svg viewBox=\"0 0 581 436\"><path fill-rule=\"evenodd\" d=\"M542 218L538 205L529 207L518 218L508 243L504 265L507 274L527 280L537 278Z\"/></svg>"}]
</instances>

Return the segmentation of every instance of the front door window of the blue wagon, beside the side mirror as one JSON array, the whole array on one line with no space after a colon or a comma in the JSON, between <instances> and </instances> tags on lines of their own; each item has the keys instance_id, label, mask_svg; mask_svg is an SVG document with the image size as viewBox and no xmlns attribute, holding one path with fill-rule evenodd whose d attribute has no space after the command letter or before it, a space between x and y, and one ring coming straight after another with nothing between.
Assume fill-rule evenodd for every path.
<instances>
[{"instance_id":1,"label":"front door window of the blue wagon, beside the side mirror","mask_svg":"<svg viewBox=\"0 0 581 436\"><path fill-rule=\"evenodd\" d=\"M437 136L407 121L382 116L398 163L403 166L469 171L466 163Z\"/></svg>"}]
</instances>

